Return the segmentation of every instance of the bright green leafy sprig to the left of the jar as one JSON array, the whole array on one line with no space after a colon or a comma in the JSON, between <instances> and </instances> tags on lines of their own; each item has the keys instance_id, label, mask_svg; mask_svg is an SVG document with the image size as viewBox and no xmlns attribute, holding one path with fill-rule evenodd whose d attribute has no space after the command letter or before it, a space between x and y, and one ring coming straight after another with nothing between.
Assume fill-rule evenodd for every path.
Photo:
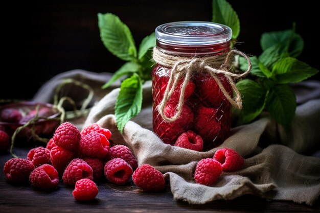
<instances>
[{"instance_id":1,"label":"bright green leafy sprig to the left of the jar","mask_svg":"<svg viewBox=\"0 0 320 213\"><path fill-rule=\"evenodd\" d=\"M107 88L118 79L126 77L121 83L115 107L117 127L122 132L125 124L141 111L142 84L151 79L153 66L150 61L151 50L155 46L156 39L154 33L145 37L139 45L137 54L132 34L118 16L112 13L99 13L98 26L101 40L108 51L127 61L102 86Z\"/></svg>"}]
</instances>

